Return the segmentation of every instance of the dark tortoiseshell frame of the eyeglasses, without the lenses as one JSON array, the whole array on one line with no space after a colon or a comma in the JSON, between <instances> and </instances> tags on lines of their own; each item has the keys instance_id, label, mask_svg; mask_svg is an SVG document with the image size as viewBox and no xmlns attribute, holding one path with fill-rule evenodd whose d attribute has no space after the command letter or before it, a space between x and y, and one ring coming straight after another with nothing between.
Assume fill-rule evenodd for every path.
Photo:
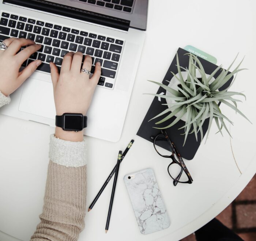
<instances>
[{"instance_id":1,"label":"dark tortoiseshell frame of the eyeglasses, without the lenses","mask_svg":"<svg viewBox=\"0 0 256 241\"><path fill-rule=\"evenodd\" d=\"M159 135L163 134L165 136L165 139L168 144L170 145L170 148L172 148L172 154L170 156L165 156L165 155L162 155L161 153L158 152L157 148L155 147L155 141L157 139L157 137ZM168 171L168 174L169 176L173 179L173 185L176 186L177 183L189 183L191 184L193 182L193 179L188 171L188 168L186 167L184 161L182 160L182 157L180 156L180 153L178 152L176 146L174 145L174 143L170 140L170 138L168 137L167 133L165 130L161 130L161 133L159 133L156 137L151 137L151 139L153 139L153 144L154 144L154 148L156 150L156 152L161 156L161 157L166 157L166 158L171 158L172 159L172 162L168 165L167 167L167 171ZM161 138L160 138L161 139ZM174 157L174 155L176 155L176 157L178 158L178 160L176 160L176 158ZM170 174L169 172L169 167L172 165L172 164L178 164L180 167L181 167L181 171L180 173L178 174L178 176L176 178L173 178L172 175ZM187 175L188 177L188 181L180 181L180 177L182 175L182 172L185 172L185 174Z\"/></svg>"}]
</instances>

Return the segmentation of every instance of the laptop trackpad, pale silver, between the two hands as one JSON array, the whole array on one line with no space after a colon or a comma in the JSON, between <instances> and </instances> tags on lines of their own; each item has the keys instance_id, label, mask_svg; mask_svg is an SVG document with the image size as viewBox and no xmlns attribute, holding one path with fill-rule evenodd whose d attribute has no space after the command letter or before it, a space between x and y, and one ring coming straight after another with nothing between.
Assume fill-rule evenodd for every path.
<instances>
[{"instance_id":1,"label":"laptop trackpad, pale silver, between the two hands","mask_svg":"<svg viewBox=\"0 0 256 241\"><path fill-rule=\"evenodd\" d=\"M23 84L19 111L54 119L56 111L52 83L27 79Z\"/></svg>"}]
</instances>

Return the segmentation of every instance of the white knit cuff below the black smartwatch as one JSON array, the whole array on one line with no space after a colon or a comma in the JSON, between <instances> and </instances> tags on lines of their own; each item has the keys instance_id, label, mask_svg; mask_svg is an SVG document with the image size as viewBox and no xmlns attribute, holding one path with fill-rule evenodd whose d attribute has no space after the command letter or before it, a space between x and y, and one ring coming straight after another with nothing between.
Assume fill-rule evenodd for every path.
<instances>
[{"instance_id":1,"label":"white knit cuff below the black smartwatch","mask_svg":"<svg viewBox=\"0 0 256 241\"><path fill-rule=\"evenodd\" d=\"M66 167L82 167L87 164L86 142L64 141L50 135L49 158Z\"/></svg>"}]
</instances>

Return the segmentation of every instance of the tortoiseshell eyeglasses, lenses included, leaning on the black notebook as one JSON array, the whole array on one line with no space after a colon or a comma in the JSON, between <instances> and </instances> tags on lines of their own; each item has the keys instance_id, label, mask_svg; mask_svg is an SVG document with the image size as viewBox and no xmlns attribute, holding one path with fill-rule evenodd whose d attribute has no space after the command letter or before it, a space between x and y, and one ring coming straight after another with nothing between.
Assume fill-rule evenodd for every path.
<instances>
[{"instance_id":1,"label":"tortoiseshell eyeglasses, lenses included, leaning on the black notebook","mask_svg":"<svg viewBox=\"0 0 256 241\"><path fill-rule=\"evenodd\" d=\"M174 143L170 141L165 130L161 130L161 133L158 134L156 137L151 137L153 139L153 144L156 152L161 157L171 158L172 162L167 167L167 171L173 179L173 185L176 186L177 183L189 183L193 182L193 179L180 156L178 153L177 148L175 147ZM167 150L160 149L159 146L165 145Z\"/></svg>"}]
</instances>

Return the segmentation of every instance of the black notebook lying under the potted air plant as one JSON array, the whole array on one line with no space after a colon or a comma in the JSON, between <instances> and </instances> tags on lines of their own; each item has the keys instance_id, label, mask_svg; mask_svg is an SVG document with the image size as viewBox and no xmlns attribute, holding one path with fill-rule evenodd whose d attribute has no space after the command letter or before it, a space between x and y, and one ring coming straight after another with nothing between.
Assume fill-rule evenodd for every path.
<instances>
[{"instance_id":1,"label":"black notebook lying under the potted air plant","mask_svg":"<svg viewBox=\"0 0 256 241\"><path fill-rule=\"evenodd\" d=\"M180 66L182 66L184 68L188 68L189 56L187 53L189 53L189 52L184 49L179 48L177 53L178 53ZM211 74L218 67L217 65L212 64L212 63L208 62L207 60L204 60L200 57L198 57L198 58L199 58L200 62L202 63L203 68L207 74ZM167 73L162 81L162 84L168 85L169 83L165 80L170 81L172 79L173 74L171 72L173 72L175 74L178 72L176 65L177 65L177 60L176 60L176 56L175 56L172 61L172 64L170 65L169 69L167 70ZM214 75L214 78L216 78L220 73L221 73L221 70L219 70ZM223 90L223 89L227 88L230 85L232 79L233 79L233 76L230 78L229 81L227 81L227 83L225 85L223 85L221 88L219 88L219 90ZM150 83L150 84L154 84L154 83ZM166 90L163 89L162 87L160 87L157 91L157 94L160 94L162 92L166 93ZM154 100L153 100L150 108L148 109L148 112L147 112L138 132L137 132L137 135L139 135L140 137L142 137L150 142L153 142L153 140L150 137L151 136L155 137L161 131L161 130L155 129L153 127L168 126L176 118L175 116L173 116L169 120L156 125L155 123L157 121L161 120L163 117L170 114L170 112L168 112L165 115L162 115L156 119L150 120L151 118L155 117L156 115L158 115L159 113L164 111L166 108L168 108L166 105L162 105L162 104L166 104L165 99L154 97ZM150 121L148 122L148 120L150 120ZM204 124L202 126L203 135L205 135L207 132L208 124L209 124L209 118L204 121ZM197 149L200 146L201 137L200 137L200 133L198 133L197 141L196 141L194 133L188 134L186 143L183 146L185 135L181 135L181 134L184 133L184 129L181 129L181 130L178 130L178 129L184 125L185 125L185 122L183 120L179 120L175 125L166 129L166 132L169 135L171 141L173 141L174 144L176 145L176 148L177 148L178 152L180 152L181 156L187 160L191 160L195 156ZM214 123L212 123L212 125L214 125ZM203 141L202 141L202 143L203 143ZM165 149L169 149L168 146L165 146L165 143L163 143L161 145L161 147L165 148ZM152 144L152 148L153 148L153 144Z\"/></svg>"}]
</instances>

